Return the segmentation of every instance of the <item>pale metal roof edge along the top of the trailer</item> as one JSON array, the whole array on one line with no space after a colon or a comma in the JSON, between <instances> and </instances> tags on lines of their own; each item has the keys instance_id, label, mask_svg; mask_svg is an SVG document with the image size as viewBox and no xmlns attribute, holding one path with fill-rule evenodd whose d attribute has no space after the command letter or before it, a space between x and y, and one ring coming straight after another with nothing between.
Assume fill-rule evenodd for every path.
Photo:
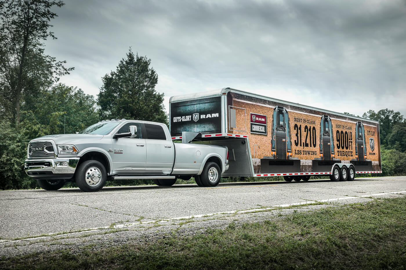
<instances>
[{"instance_id":1,"label":"pale metal roof edge along the top of the trailer","mask_svg":"<svg viewBox=\"0 0 406 270\"><path fill-rule=\"evenodd\" d=\"M245 91L241 91L241 90L230 88L230 87L221 88L221 89L215 89L215 90L210 90L210 91L205 91L205 92L197 92L197 93L192 93L192 94L171 96L171 98L169 99L169 103L179 102L179 101L186 101L186 100L191 100L191 99L203 99L203 98L213 97L213 96L221 96L222 94L227 94L228 92L238 93L238 94L242 94L242 95L246 95L246 96L253 96L253 97L256 97L256 98L259 98L259 99L265 99L265 100L268 100L268 101L285 103L285 104L288 104L288 105L298 106L298 107L302 107L302 108L306 108L306 109L315 109L317 111L325 112L326 114L336 114L336 115L343 116L343 117L349 117L349 118L353 118L353 119L359 119L359 120L369 121L369 122L373 122L373 123L379 123L378 121L367 119L367 118L362 118L362 117L357 117L357 116L350 116L348 114L339 113L337 111L330 111L330 110L326 110L326 109L320 109L320 108L317 108L317 107L311 107L311 106L303 105L303 104L300 104L300 103L284 101L284 100L281 100L281 99L273 99L273 98L270 98L268 96L262 96L262 95L259 95L259 94L253 94L253 93L250 93L250 92L245 92Z\"/></svg>"}]
</instances>

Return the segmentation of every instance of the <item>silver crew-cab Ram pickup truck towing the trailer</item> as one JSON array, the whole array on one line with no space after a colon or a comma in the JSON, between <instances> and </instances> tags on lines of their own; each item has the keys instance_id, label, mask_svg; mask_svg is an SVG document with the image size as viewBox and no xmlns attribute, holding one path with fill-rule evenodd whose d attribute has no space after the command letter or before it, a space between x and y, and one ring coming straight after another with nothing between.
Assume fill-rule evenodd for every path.
<instances>
[{"instance_id":1,"label":"silver crew-cab Ram pickup truck towing the trailer","mask_svg":"<svg viewBox=\"0 0 406 270\"><path fill-rule=\"evenodd\" d=\"M192 176L199 186L216 186L228 166L226 146L173 143L165 124L125 119L33 139L24 162L41 188L75 181L82 191L99 191L106 180L153 179L171 186Z\"/></svg>"}]
</instances>

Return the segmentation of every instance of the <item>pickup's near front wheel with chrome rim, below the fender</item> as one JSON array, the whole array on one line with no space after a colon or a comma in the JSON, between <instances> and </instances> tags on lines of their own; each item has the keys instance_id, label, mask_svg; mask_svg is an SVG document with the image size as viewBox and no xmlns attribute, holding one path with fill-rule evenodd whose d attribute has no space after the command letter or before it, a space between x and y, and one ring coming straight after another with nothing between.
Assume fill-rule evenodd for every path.
<instances>
[{"instance_id":1,"label":"pickup's near front wheel with chrome rim, below the fender","mask_svg":"<svg viewBox=\"0 0 406 270\"><path fill-rule=\"evenodd\" d=\"M76 169L75 178L81 191L99 191L106 184L106 168L99 161L87 160Z\"/></svg>"}]
</instances>

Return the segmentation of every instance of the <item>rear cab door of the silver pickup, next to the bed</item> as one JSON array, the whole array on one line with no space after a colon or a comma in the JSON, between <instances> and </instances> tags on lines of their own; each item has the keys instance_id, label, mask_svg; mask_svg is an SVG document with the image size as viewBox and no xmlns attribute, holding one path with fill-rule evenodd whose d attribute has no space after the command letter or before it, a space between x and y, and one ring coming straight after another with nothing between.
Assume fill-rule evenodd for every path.
<instances>
[{"instance_id":1,"label":"rear cab door of the silver pickup, next to the bed","mask_svg":"<svg viewBox=\"0 0 406 270\"><path fill-rule=\"evenodd\" d=\"M147 171L156 174L170 174L173 167L175 150L172 138L164 131L164 126L145 123L147 143Z\"/></svg>"}]
</instances>

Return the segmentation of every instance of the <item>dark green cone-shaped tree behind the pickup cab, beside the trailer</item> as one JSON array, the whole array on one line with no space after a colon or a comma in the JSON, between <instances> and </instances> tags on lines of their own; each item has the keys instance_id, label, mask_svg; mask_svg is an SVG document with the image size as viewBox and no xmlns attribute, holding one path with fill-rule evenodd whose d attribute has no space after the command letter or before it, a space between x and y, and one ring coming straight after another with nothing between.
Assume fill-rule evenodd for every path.
<instances>
[{"instance_id":1,"label":"dark green cone-shaped tree behind the pickup cab, beside the trailer","mask_svg":"<svg viewBox=\"0 0 406 270\"><path fill-rule=\"evenodd\" d=\"M164 122L164 94L156 92L158 75L150 67L151 59L131 51L120 60L116 71L106 74L97 95L102 118L126 118Z\"/></svg>"}]
</instances>

